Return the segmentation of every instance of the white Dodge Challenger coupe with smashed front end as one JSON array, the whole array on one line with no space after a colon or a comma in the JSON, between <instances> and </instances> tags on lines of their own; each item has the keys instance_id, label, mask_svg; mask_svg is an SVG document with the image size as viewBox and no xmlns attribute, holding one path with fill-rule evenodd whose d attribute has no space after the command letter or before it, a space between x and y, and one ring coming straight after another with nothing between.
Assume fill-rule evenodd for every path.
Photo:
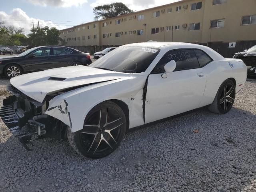
<instances>
[{"instance_id":1,"label":"white Dodge Challenger coupe with smashed front end","mask_svg":"<svg viewBox=\"0 0 256 192\"><path fill-rule=\"evenodd\" d=\"M0 116L28 150L34 134L66 137L80 155L102 158L131 128L204 106L227 113L246 76L242 60L206 46L127 44L89 67L12 78Z\"/></svg>"}]
</instances>

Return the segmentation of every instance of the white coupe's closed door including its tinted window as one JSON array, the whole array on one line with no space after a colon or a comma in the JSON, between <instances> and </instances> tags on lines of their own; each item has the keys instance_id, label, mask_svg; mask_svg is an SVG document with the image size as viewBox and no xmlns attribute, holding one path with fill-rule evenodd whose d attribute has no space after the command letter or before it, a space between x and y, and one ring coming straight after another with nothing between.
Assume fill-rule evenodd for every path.
<instances>
[{"instance_id":1,"label":"white coupe's closed door including its tinted window","mask_svg":"<svg viewBox=\"0 0 256 192\"><path fill-rule=\"evenodd\" d=\"M176 69L162 78L164 65L171 60L176 62ZM194 50L166 52L148 76L145 123L198 108L205 86L206 75Z\"/></svg>"}]
</instances>

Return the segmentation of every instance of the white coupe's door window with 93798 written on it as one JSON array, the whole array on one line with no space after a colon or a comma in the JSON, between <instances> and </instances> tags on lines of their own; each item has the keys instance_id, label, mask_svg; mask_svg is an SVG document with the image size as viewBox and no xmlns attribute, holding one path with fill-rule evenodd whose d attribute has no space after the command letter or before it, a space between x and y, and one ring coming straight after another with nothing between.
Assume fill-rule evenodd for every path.
<instances>
[{"instance_id":1,"label":"white coupe's door window with 93798 written on it","mask_svg":"<svg viewBox=\"0 0 256 192\"><path fill-rule=\"evenodd\" d=\"M171 60L174 60L176 62L176 69L174 71L188 70L200 67L194 50L171 50L164 54L158 64L156 64L156 67L154 68L152 73L165 72L164 66Z\"/></svg>"}]
</instances>

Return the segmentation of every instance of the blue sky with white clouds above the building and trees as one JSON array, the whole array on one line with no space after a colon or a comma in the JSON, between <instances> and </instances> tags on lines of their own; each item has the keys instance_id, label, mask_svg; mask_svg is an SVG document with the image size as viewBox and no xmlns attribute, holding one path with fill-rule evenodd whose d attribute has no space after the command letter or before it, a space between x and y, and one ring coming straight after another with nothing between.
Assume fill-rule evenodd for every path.
<instances>
[{"instance_id":1,"label":"blue sky with white clouds above the building and trees","mask_svg":"<svg viewBox=\"0 0 256 192\"><path fill-rule=\"evenodd\" d=\"M93 8L102 4L122 2L139 11L178 0L3 0L0 5L0 22L5 26L24 28L25 34L34 26L69 28L94 19Z\"/></svg>"}]
</instances>

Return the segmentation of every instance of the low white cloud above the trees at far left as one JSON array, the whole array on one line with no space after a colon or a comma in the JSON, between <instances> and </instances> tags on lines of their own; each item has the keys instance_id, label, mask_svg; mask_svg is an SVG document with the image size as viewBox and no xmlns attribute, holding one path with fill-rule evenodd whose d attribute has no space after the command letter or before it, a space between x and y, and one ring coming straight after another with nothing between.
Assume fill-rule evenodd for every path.
<instances>
[{"instance_id":1,"label":"low white cloud above the trees at far left","mask_svg":"<svg viewBox=\"0 0 256 192\"><path fill-rule=\"evenodd\" d=\"M40 27L49 26L56 27L57 29L64 29L67 26L54 24L52 21L45 21L42 19L36 19L29 17L26 12L20 8L14 8L10 14L4 11L0 11L0 21L4 22L5 26L14 26L15 28L24 28L25 34L30 33L30 29L33 27L32 22L34 21L34 27L39 25Z\"/></svg>"}]
</instances>

